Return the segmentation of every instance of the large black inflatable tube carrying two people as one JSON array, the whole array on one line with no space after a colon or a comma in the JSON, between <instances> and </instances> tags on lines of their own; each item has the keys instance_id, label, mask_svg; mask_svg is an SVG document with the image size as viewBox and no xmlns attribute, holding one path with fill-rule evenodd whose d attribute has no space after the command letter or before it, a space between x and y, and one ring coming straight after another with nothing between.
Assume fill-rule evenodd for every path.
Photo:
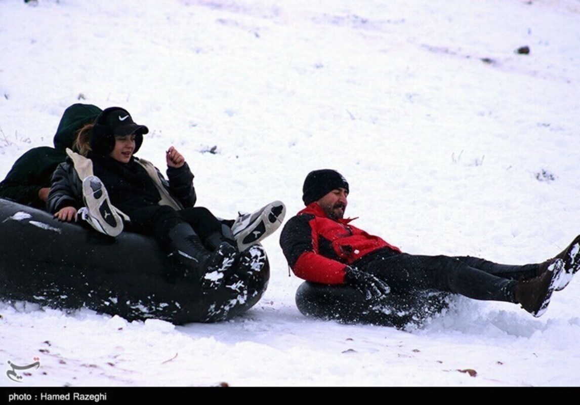
<instances>
[{"instance_id":1,"label":"large black inflatable tube carrying two people","mask_svg":"<svg viewBox=\"0 0 580 405\"><path fill-rule=\"evenodd\" d=\"M86 307L127 320L175 324L231 319L252 308L270 278L266 265L212 291L187 277L153 238L112 238L38 209L0 199L0 300L58 309Z\"/></svg>"}]
</instances>

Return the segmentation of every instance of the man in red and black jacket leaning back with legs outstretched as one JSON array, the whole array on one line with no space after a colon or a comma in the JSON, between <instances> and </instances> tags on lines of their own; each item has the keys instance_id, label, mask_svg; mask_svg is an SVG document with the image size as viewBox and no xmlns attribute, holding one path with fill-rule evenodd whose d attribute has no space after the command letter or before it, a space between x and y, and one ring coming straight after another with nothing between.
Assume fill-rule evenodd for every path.
<instances>
[{"instance_id":1,"label":"man in red and black jacket leaning back with legs outstretched","mask_svg":"<svg viewBox=\"0 0 580 405\"><path fill-rule=\"evenodd\" d=\"M554 290L580 269L580 236L543 263L500 265L470 256L409 255L350 225L343 218L349 183L331 169L310 172L303 186L306 208L289 219L280 245L296 276L322 284L351 285L369 302L394 292L438 290L473 299L520 303L541 316Z\"/></svg>"}]
</instances>

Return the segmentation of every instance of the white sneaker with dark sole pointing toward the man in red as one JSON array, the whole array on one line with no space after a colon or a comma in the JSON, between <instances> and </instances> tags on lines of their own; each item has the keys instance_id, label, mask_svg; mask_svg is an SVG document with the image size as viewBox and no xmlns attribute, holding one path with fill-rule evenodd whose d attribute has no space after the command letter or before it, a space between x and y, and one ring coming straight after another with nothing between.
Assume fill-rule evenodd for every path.
<instances>
[{"instance_id":1,"label":"white sneaker with dark sole pointing toward the man in red","mask_svg":"<svg viewBox=\"0 0 580 405\"><path fill-rule=\"evenodd\" d=\"M270 236L282 225L286 207L282 201L273 201L252 214L241 214L231 226L240 252Z\"/></svg>"}]
</instances>

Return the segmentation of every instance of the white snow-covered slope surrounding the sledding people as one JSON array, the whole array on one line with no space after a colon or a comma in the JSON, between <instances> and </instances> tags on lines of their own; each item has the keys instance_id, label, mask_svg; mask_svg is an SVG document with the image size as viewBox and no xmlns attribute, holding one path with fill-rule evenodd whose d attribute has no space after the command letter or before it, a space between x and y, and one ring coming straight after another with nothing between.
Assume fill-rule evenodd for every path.
<instances>
[{"instance_id":1,"label":"white snow-covered slope surrounding the sledding people","mask_svg":"<svg viewBox=\"0 0 580 405\"><path fill-rule=\"evenodd\" d=\"M578 0L2 0L0 177L70 104L118 105L151 130L138 156L164 167L174 145L216 215L289 218L334 168L354 224L404 251L543 261L580 233L579 18ZM298 312L279 235L263 299L225 323L0 303L0 386L580 385L578 278L539 319L460 298L419 329L340 325Z\"/></svg>"}]
</instances>

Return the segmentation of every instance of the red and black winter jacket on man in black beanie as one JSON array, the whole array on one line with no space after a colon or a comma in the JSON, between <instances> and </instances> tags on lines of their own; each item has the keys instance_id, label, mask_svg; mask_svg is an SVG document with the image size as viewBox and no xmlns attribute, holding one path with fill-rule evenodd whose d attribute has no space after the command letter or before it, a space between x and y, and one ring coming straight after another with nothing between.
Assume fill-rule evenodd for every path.
<instances>
[{"instance_id":1,"label":"red and black winter jacket on man in black beanie","mask_svg":"<svg viewBox=\"0 0 580 405\"><path fill-rule=\"evenodd\" d=\"M288 220L280 246L296 276L324 284L344 284L345 267L378 249L400 249L349 223L328 218L316 202Z\"/></svg>"}]
</instances>

